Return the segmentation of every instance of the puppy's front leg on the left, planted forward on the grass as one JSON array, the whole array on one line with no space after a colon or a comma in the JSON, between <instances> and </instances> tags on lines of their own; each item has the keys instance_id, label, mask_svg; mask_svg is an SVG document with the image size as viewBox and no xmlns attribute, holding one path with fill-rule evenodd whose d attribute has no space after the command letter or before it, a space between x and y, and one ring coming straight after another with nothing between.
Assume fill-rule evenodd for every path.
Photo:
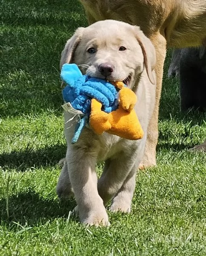
<instances>
[{"instance_id":1,"label":"puppy's front leg on the left, planted forward on the grass","mask_svg":"<svg viewBox=\"0 0 206 256\"><path fill-rule=\"evenodd\" d=\"M97 191L94 152L89 148L71 146L67 149L66 162L80 221L95 226L108 225L108 215Z\"/></svg>"}]
</instances>

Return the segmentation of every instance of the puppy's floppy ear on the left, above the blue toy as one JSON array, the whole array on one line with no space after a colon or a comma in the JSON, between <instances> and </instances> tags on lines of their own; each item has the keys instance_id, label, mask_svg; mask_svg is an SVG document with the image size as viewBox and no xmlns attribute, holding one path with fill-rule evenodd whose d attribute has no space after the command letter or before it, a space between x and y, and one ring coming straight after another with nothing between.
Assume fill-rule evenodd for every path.
<instances>
[{"instance_id":1,"label":"puppy's floppy ear on the left, above the blue toy","mask_svg":"<svg viewBox=\"0 0 206 256\"><path fill-rule=\"evenodd\" d=\"M61 54L60 69L64 63L73 61L74 52L80 43L84 28L78 28L74 35L66 42L66 45Z\"/></svg>"}]
</instances>

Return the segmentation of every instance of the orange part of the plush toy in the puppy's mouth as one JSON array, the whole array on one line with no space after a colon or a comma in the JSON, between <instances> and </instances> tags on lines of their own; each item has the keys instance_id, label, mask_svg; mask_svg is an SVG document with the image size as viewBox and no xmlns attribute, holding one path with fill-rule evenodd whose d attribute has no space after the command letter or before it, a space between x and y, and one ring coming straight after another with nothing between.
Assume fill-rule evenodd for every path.
<instances>
[{"instance_id":1,"label":"orange part of the plush toy in the puppy's mouth","mask_svg":"<svg viewBox=\"0 0 206 256\"><path fill-rule=\"evenodd\" d=\"M137 96L132 90L124 87L123 82L116 82L114 86L120 89L117 110L106 113L101 110L102 104L92 99L89 125L96 134L106 131L127 140L142 139L143 129L133 109Z\"/></svg>"}]
</instances>

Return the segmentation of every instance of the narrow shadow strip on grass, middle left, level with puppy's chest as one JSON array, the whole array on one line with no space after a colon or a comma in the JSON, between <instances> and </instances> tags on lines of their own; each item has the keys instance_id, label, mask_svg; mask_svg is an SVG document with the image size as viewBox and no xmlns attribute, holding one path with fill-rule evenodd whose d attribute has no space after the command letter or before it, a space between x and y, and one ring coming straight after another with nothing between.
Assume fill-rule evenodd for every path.
<instances>
[{"instance_id":1,"label":"narrow shadow strip on grass, middle left, level with puppy's chest","mask_svg":"<svg viewBox=\"0 0 206 256\"><path fill-rule=\"evenodd\" d=\"M26 148L25 151L0 154L0 165L3 169L15 168L16 171L23 172L31 167L55 166L65 155L66 145L54 145L37 150Z\"/></svg>"}]
</instances>

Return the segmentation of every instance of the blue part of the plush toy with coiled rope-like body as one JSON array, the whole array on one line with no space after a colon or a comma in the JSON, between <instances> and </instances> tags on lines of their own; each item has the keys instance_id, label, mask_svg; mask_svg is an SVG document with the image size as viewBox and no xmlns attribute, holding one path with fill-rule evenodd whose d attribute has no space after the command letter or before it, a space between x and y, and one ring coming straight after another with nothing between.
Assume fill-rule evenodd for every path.
<instances>
[{"instance_id":1,"label":"blue part of the plush toy with coiled rope-like body","mask_svg":"<svg viewBox=\"0 0 206 256\"><path fill-rule=\"evenodd\" d=\"M74 144L89 121L91 99L96 99L102 104L102 110L110 113L118 107L118 89L103 79L82 75L76 64L63 64L61 79L66 83L66 87L62 91L64 101L70 102L74 109L84 114L75 128L72 138L72 144Z\"/></svg>"}]
</instances>

